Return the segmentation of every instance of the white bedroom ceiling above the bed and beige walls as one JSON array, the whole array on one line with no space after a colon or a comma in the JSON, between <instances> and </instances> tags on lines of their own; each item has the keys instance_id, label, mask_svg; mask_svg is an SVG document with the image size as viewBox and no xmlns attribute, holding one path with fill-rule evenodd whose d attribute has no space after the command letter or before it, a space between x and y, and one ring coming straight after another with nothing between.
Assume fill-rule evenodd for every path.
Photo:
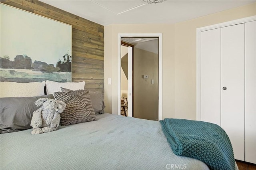
<instances>
[{"instance_id":1,"label":"white bedroom ceiling above the bed and beige walls","mask_svg":"<svg viewBox=\"0 0 256 170\"><path fill-rule=\"evenodd\" d=\"M142 0L41 0L103 26L110 24L174 24L256 0L166 0L147 4Z\"/></svg>"}]
</instances>

